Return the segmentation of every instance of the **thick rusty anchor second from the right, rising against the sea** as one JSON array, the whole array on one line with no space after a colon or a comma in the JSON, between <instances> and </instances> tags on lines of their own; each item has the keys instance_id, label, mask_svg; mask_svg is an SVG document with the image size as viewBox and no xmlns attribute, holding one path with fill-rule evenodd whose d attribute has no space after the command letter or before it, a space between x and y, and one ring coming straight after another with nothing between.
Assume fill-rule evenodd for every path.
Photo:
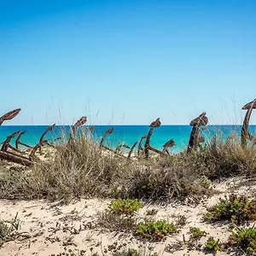
<instances>
[{"instance_id":1,"label":"thick rusty anchor second from the right, rising against the sea","mask_svg":"<svg viewBox=\"0 0 256 256\"><path fill-rule=\"evenodd\" d=\"M189 138L188 152L193 148L198 148L200 143L203 143L205 138L201 137L201 131L205 129L205 126L208 124L207 113L201 113L197 118L193 119L189 125L193 126L193 129ZM203 127L201 127L203 126Z\"/></svg>"}]
</instances>

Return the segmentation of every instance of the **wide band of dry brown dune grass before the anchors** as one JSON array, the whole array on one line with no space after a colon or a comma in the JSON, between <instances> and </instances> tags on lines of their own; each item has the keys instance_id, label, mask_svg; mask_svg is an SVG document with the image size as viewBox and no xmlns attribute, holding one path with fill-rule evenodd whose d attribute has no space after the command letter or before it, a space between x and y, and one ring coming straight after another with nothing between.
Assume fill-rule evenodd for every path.
<instances>
[{"instance_id":1,"label":"wide band of dry brown dune grass before the anchors","mask_svg":"<svg viewBox=\"0 0 256 256\"><path fill-rule=\"evenodd\" d=\"M211 193L214 178L256 173L256 149L242 148L236 139L213 138L190 154L129 161L82 136L57 145L51 155L30 169L0 172L0 198L200 197Z\"/></svg>"}]
</instances>

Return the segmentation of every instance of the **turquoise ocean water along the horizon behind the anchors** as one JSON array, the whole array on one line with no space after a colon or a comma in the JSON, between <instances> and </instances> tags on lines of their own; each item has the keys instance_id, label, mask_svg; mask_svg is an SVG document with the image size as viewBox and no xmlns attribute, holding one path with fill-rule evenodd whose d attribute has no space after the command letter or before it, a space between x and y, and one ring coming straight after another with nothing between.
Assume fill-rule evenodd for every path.
<instances>
[{"instance_id":1,"label":"turquoise ocean water along the horizon behind the anchors","mask_svg":"<svg viewBox=\"0 0 256 256\"><path fill-rule=\"evenodd\" d=\"M26 131L26 134L21 137L21 141L34 146L47 127L47 125L2 125L0 126L0 143L15 131ZM139 142L140 138L149 131L148 125L97 125L92 133L93 139L99 142L104 132L111 127L114 128L113 134L108 135L105 140L106 145L111 148L116 148L119 143L125 143L131 147L133 143ZM86 126L80 127L79 132L84 129L86 129ZM154 148L162 149L163 144L173 138L176 146L172 148L172 152L177 153L187 148L191 130L192 126L189 125L161 125L154 129L150 143ZM256 125L250 125L249 130L253 135L256 135ZM53 140L56 137L68 137L70 131L70 126L56 125L55 129L49 131L45 138ZM206 141L216 134L225 139L233 132L240 135L241 125L207 125L207 130L202 132L202 136L206 138ZM15 139L13 139L12 144L15 144Z\"/></svg>"}]
</instances>

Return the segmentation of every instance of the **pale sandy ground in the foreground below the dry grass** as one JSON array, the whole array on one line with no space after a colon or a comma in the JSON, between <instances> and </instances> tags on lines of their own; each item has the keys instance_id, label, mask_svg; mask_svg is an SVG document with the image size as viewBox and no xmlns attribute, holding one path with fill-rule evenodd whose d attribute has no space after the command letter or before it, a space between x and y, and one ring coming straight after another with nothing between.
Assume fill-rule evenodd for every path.
<instances>
[{"instance_id":1,"label":"pale sandy ground in the foreground below the dry grass","mask_svg":"<svg viewBox=\"0 0 256 256\"><path fill-rule=\"evenodd\" d=\"M81 200L67 206L58 202L2 200L0 201L0 219L15 218L18 212L21 227L17 239L5 243L0 248L0 255L48 256L54 253L63 253L65 247L67 250L72 249L73 251L85 250L86 255L102 254L107 252L109 246L114 242L117 242L117 245L125 243L124 247L140 247L144 252L149 252L151 249L160 255L205 255L203 252L195 249L189 251L187 247L184 247L183 235L186 241L189 240L189 227L196 226L208 233L207 237L201 239L202 244L207 241L209 236L225 241L229 236L227 230L229 224L205 224L201 221L202 213L207 211L207 207L216 203L219 197L224 197L230 192L253 195L256 189L255 184L254 180L241 178L214 183L213 188L218 193L209 199L203 199L198 205L193 205L191 201L172 202L166 205L146 204L138 212L138 218L145 218L147 211L152 208L158 210L154 216L155 219L175 221L179 214L187 218L188 223L181 229L181 232L174 236L168 236L166 241L159 243L145 243L137 240L131 234L109 233L95 228L97 212L108 208L108 200ZM92 251L90 248L93 248ZM225 255L225 253L217 253L217 255Z\"/></svg>"}]
</instances>

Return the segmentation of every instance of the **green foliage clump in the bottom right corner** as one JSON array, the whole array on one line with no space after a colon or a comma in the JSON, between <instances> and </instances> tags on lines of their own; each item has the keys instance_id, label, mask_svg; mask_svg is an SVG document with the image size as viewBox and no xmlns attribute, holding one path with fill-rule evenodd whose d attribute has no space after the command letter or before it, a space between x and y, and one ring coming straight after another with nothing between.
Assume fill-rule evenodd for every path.
<instances>
[{"instance_id":1,"label":"green foliage clump in the bottom right corner","mask_svg":"<svg viewBox=\"0 0 256 256\"><path fill-rule=\"evenodd\" d=\"M246 250L247 253L256 253L256 228L236 228L232 230L227 244Z\"/></svg>"}]
</instances>

